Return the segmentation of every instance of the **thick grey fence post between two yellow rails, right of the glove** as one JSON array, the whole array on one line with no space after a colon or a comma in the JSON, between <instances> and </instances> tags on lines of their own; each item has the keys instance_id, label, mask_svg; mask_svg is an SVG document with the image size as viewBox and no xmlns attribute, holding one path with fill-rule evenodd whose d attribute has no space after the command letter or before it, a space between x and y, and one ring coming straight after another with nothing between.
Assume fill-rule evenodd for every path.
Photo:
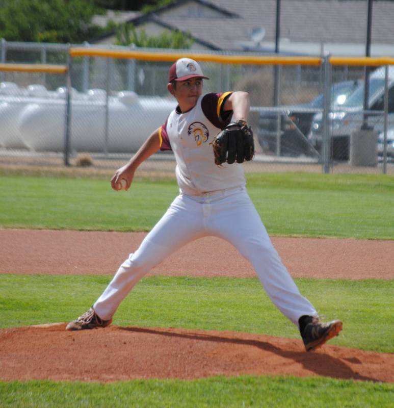
<instances>
[{"instance_id":1,"label":"thick grey fence post between two yellow rails, right of the glove","mask_svg":"<svg viewBox=\"0 0 394 408\"><path fill-rule=\"evenodd\" d=\"M331 135L330 135L330 107L331 107L331 72L330 57L326 55L323 59L324 64L324 107L323 107L323 173L330 172L331 159Z\"/></svg>"}]
</instances>

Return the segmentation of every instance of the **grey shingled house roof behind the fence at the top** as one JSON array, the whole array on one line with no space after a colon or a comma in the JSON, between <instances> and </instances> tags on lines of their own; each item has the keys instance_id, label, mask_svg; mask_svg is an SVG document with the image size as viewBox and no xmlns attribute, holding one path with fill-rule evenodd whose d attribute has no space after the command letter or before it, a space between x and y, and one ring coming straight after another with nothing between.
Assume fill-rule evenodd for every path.
<instances>
[{"instance_id":1,"label":"grey shingled house roof behind the fence at the top","mask_svg":"<svg viewBox=\"0 0 394 408\"><path fill-rule=\"evenodd\" d=\"M212 18L179 16L172 11L195 4L214 11ZM242 6L241 6L242 4ZM281 0L280 38L292 42L365 43L365 0ZM373 3L372 44L393 44L394 2ZM276 0L178 0L152 13L128 20L135 25L154 22L189 32L211 49L241 50L250 42L252 29L264 29L262 42L275 40Z\"/></svg>"}]
</instances>

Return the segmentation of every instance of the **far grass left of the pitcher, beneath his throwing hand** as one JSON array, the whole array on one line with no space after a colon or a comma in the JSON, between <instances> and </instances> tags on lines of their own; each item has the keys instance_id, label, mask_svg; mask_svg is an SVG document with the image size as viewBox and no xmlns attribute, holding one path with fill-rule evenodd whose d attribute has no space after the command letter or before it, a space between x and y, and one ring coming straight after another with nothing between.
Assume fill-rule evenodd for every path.
<instances>
[{"instance_id":1,"label":"far grass left of the pitcher, beneath his throwing hand","mask_svg":"<svg viewBox=\"0 0 394 408\"><path fill-rule=\"evenodd\" d=\"M103 180L0 176L0 225L147 231L176 193L171 182L137 182L125 193L112 190Z\"/></svg>"}]
</instances>

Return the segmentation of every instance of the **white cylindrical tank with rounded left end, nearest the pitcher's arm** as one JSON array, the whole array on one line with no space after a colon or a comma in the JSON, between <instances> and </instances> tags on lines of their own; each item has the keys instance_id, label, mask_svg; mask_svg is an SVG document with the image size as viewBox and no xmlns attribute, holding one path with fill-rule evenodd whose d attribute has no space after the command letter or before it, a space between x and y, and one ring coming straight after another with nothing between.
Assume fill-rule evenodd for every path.
<instances>
[{"instance_id":1,"label":"white cylindrical tank with rounded left end, nearest the pitcher's arm","mask_svg":"<svg viewBox=\"0 0 394 408\"><path fill-rule=\"evenodd\" d=\"M93 92L95 91L95 92ZM106 135L106 95L100 90L71 102L71 151L135 152L175 108L175 100L139 98L134 92L109 97ZM65 99L30 104L21 115L24 143L36 151L63 151Z\"/></svg>"}]
</instances>

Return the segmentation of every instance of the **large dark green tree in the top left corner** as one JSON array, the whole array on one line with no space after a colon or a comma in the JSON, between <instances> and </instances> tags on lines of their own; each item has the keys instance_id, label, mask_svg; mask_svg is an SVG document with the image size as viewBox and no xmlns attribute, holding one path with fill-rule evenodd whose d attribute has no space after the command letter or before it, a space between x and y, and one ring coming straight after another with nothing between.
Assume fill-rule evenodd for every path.
<instances>
[{"instance_id":1,"label":"large dark green tree in the top left corner","mask_svg":"<svg viewBox=\"0 0 394 408\"><path fill-rule=\"evenodd\" d=\"M7 41L77 43L102 30L91 24L105 10L94 0L0 1L0 37Z\"/></svg>"}]
</instances>

